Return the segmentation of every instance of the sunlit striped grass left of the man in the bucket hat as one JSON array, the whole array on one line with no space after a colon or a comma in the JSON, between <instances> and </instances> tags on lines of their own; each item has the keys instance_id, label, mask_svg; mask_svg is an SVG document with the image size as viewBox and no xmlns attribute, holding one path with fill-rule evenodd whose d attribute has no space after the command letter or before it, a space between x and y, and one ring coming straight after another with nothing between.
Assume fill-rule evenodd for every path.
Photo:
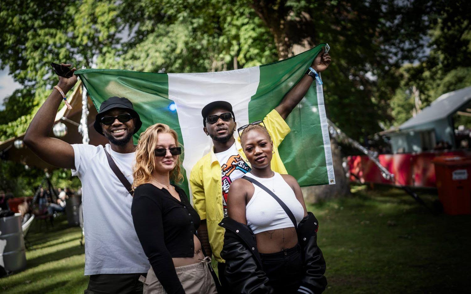
<instances>
[{"instance_id":1,"label":"sunlit striped grass left of the man in the bucket hat","mask_svg":"<svg viewBox=\"0 0 471 294\"><path fill-rule=\"evenodd\" d=\"M41 221L44 222L44 221ZM54 227L39 230L34 220L28 232L31 243L26 251L26 270L0 278L0 293L82 293L88 277L83 276L85 248L80 245L82 230L69 227L65 216L54 220Z\"/></svg>"}]
</instances>

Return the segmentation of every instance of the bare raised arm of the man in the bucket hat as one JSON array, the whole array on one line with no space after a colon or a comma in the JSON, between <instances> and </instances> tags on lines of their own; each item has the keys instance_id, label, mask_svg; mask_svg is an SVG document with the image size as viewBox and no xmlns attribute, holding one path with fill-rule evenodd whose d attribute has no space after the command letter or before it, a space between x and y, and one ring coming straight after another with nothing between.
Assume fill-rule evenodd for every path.
<instances>
[{"instance_id":1,"label":"bare raised arm of the man in the bucket hat","mask_svg":"<svg viewBox=\"0 0 471 294\"><path fill-rule=\"evenodd\" d=\"M62 64L71 66L71 64ZM73 68L75 71L75 68ZM77 77L71 78L59 77L59 86L64 93L67 93L77 82ZM26 134L24 135L24 144L28 146L39 158L47 163L63 168L75 168L73 148L57 138L49 137L49 133L54 125L57 108L62 103L62 95L55 88L49 95L46 102L38 110L32 119Z\"/></svg>"}]
</instances>

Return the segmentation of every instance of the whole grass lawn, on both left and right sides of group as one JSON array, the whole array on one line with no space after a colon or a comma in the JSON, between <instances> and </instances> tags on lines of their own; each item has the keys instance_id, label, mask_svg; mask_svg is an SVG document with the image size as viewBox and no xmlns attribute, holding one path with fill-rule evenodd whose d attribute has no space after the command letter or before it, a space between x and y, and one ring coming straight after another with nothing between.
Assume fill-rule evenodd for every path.
<instances>
[{"instance_id":1,"label":"whole grass lawn, on both left and right sides of group","mask_svg":"<svg viewBox=\"0 0 471 294\"><path fill-rule=\"evenodd\" d=\"M431 215L400 189L352 186L352 197L309 207L327 262L325 293L468 293L471 215ZM420 193L430 203L437 196ZM0 278L0 293L83 293L80 228L33 224L27 269Z\"/></svg>"}]
</instances>

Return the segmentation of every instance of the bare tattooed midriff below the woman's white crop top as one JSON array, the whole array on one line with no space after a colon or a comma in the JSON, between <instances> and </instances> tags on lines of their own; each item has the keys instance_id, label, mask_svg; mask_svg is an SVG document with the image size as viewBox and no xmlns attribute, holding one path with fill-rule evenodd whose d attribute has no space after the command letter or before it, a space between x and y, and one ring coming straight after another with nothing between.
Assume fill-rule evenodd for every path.
<instances>
[{"instance_id":1,"label":"bare tattooed midriff below the woman's white crop top","mask_svg":"<svg viewBox=\"0 0 471 294\"><path fill-rule=\"evenodd\" d=\"M260 253L277 253L298 244L294 227L260 232L255 234L255 239Z\"/></svg>"}]
</instances>

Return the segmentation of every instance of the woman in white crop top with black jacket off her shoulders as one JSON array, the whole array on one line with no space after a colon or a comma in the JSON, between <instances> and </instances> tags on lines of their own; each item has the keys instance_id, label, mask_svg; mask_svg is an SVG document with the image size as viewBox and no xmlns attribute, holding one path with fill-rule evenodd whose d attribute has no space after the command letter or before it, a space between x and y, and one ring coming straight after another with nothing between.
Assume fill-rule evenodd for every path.
<instances>
[{"instance_id":1,"label":"woman in white crop top with black jacket off her shoulders","mask_svg":"<svg viewBox=\"0 0 471 294\"><path fill-rule=\"evenodd\" d=\"M221 257L234 293L322 293L325 260L316 217L306 209L291 175L271 169L273 141L258 122L240 127L251 171L229 187ZM257 293L259 293L257 292Z\"/></svg>"}]
</instances>

